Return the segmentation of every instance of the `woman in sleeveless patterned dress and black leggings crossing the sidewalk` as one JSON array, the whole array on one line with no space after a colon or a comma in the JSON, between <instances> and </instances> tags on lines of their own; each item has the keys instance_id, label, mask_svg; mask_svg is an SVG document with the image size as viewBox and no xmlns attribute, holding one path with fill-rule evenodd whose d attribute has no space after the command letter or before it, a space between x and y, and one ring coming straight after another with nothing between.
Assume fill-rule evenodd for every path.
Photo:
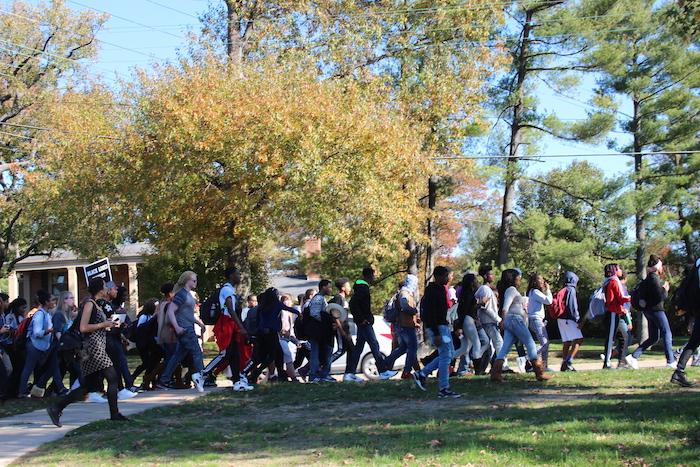
<instances>
[{"instance_id":1,"label":"woman in sleeveless patterned dress and black leggings crossing the sidewalk","mask_svg":"<svg viewBox=\"0 0 700 467\"><path fill-rule=\"evenodd\" d=\"M52 403L46 411L54 425L61 427L61 415L63 410L74 402L80 402L87 393L88 386L102 384L102 378L107 380L107 401L109 403L110 420L128 421L119 413L117 405L118 376L112 361L107 355L106 331L115 326L115 323L107 320L102 308L96 300L105 297L105 282L101 277L94 277L88 286L90 298L84 302L82 310L76 319L78 329L83 335L84 358L80 361L81 381L80 387L72 390L57 402ZM75 323L74 323L75 324Z\"/></svg>"}]
</instances>

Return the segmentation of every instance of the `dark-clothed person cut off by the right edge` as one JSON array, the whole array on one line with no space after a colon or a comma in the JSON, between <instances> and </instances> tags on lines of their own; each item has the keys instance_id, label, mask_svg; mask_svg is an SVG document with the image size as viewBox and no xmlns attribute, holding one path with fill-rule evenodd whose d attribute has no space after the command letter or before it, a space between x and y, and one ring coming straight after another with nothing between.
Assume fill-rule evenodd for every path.
<instances>
[{"instance_id":1,"label":"dark-clothed person cut off by the right edge","mask_svg":"<svg viewBox=\"0 0 700 467\"><path fill-rule=\"evenodd\" d=\"M700 347L700 324L698 324L698 319L700 319L700 259L695 262L694 268L686 272L686 279L682 285L682 289L676 293L677 304L682 306L686 313L695 318L695 325L693 326L690 339L685 344L680 357L678 357L678 364L673 375L671 375L671 382L682 387L691 387L695 383L689 381L686 377L685 367L690 357Z\"/></svg>"}]
</instances>

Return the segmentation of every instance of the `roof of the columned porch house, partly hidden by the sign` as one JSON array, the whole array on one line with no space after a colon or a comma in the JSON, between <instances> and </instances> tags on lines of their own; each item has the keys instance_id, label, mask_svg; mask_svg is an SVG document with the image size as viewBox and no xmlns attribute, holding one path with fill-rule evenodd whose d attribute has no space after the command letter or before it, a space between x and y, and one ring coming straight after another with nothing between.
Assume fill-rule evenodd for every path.
<instances>
[{"instance_id":1,"label":"roof of the columned porch house, partly hidden by the sign","mask_svg":"<svg viewBox=\"0 0 700 467\"><path fill-rule=\"evenodd\" d=\"M148 242L124 243L117 246L117 252L109 257L112 265L126 263L142 263L144 256L155 252ZM90 264L92 261L79 257L70 250L55 250L51 256L30 256L15 264L15 271L36 271L44 269L58 269L65 267L80 267Z\"/></svg>"}]
</instances>

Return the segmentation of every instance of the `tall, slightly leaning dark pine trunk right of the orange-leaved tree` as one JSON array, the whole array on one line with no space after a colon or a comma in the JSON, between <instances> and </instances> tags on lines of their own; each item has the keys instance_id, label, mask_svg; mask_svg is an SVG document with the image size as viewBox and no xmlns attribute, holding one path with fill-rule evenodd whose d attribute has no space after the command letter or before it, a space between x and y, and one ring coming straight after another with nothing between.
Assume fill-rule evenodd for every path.
<instances>
[{"instance_id":1,"label":"tall, slightly leaning dark pine trunk right of the orange-leaved tree","mask_svg":"<svg viewBox=\"0 0 700 467\"><path fill-rule=\"evenodd\" d=\"M525 95L525 78L527 76L527 55L530 48L532 33L533 11L525 12L525 23L520 35L520 47L516 63L518 66L516 87L513 94L517 101L513 104L513 120L510 125L510 142L508 145L508 160L506 162L505 190L503 193L503 209L501 211L501 227L498 232L498 258L497 264L502 266L510 259L510 237L513 225L513 212L515 207L515 192L518 184L518 151L522 144L522 123Z\"/></svg>"}]
</instances>

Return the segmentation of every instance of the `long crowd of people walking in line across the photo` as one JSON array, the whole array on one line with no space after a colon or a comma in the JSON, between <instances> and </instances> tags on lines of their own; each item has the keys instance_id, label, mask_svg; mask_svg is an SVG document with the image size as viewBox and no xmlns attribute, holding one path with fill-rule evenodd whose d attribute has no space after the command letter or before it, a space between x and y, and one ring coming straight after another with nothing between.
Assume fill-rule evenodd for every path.
<instances>
[{"instance_id":1,"label":"long crowd of people walking in line across the photo","mask_svg":"<svg viewBox=\"0 0 700 467\"><path fill-rule=\"evenodd\" d=\"M579 279L572 271L563 275L556 290L533 273L522 294L518 269L506 269L496 280L486 265L453 285L454 273L437 266L422 296L418 277L408 274L383 309L394 341L389 355L381 352L374 329L371 267L354 285L347 278L323 279L317 290L296 297L296 304L275 288L239 296L241 273L236 268L224 271L223 285L200 301L197 275L186 271L175 283L163 284L161 297L147 300L133 321L125 309L127 291L101 278L90 281L88 296L79 304L70 292L55 297L39 291L31 308L22 298L9 302L0 294L0 396L58 396L48 408L57 426L65 407L83 400L104 402L111 420L126 421L120 400L148 390L194 386L201 392L216 386L221 374L232 381L234 391L253 390L265 373L268 381L330 383L336 382L333 362L345 355L342 381L362 382L358 364L367 345L378 379L400 371L402 379L426 390L428 377L437 371L438 397L459 398L450 387L451 377L486 374L490 368L490 379L502 382L504 373L513 371L507 360L513 346L521 371L532 372L539 381L550 379L548 320L556 320L563 342L560 371L576 371L581 328L595 319L602 319L606 332L604 369L613 368L615 354L618 368L637 369L644 352L662 340L673 370L671 381L692 386L685 369L691 358L700 365L700 326L694 326L700 313L700 260L688 268L673 294L674 307L685 314L690 332L687 344L676 352L665 312L669 284L662 279L663 263L652 255L647 266L646 278L630 292L623 269L606 265L586 312L580 311ZM632 306L647 318L649 337L630 353ZM205 365L202 337L207 325L213 326L219 354ZM421 342L433 349L423 358ZM133 372L127 360L129 343L141 360ZM395 371L402 356L403 368Z\"/></svg>"}]
</instances>

